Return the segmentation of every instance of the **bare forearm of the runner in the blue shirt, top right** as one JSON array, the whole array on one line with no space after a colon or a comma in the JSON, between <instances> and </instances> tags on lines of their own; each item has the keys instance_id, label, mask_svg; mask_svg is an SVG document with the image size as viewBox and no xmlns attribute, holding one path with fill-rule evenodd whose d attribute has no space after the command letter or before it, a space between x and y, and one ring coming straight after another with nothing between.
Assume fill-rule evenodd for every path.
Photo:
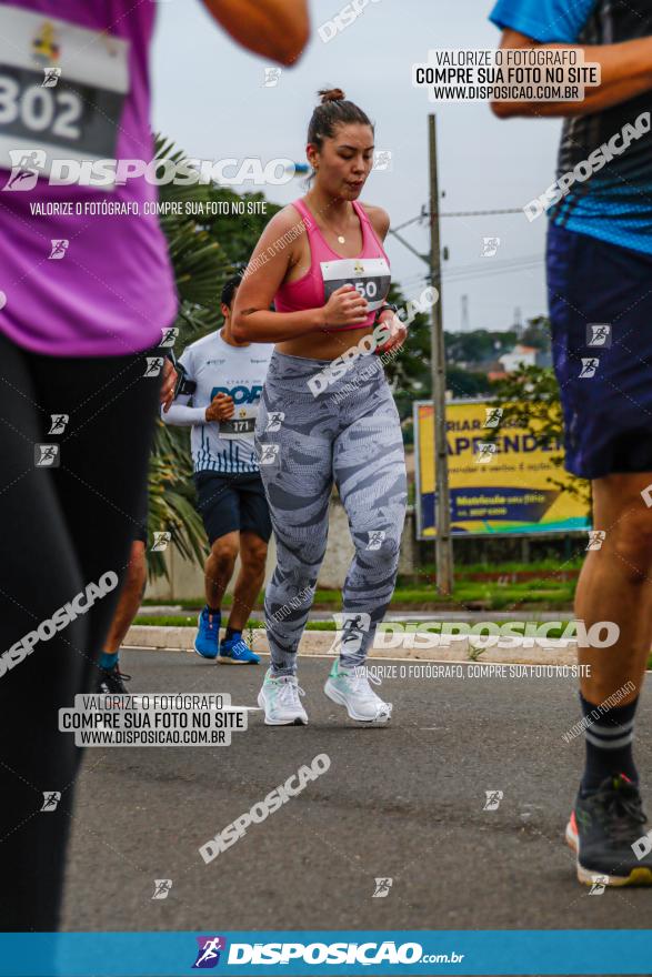
<instances>
[{"instance_id":1,"label":"bare forearm of the runner in the blue shirt, top right","mask_svg":"<svg viewBox=\"0 0 652 977\"><path fill-rule=\"evenodd\" d=\"M512 115L588 115L626 102L652 88L652 37L619 44L540 44L519 31L503 30L500 48L571 48L584 52L584 63L600 64L600 84L586 85L581 102L491 102L492 112L500 119Z\"/></svg>"}]
</instances>

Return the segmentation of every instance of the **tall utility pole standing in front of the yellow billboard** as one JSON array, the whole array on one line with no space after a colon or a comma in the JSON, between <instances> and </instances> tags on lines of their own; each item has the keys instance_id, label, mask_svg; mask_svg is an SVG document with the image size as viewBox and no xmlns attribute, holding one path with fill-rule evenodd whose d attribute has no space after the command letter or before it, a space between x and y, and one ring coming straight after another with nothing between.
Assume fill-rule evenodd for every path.
<instances>
[{"instance_id":1,"label":"tall utility pole standing in front of the yellow billboard","mask_svg":"<svg viewBox=\"0 0 652 977\"><path fill-rule=\"evenodd\" d=\"M430 278L439 290L439 300L431 310L432 410L434 422L435 485L435 566L441 594L453 590L453 541L451 536L451 502L449 492L449 456L447 449L447 375L442 324L441 245L439 235L439 181L437 171L437 122L428 117L430 157Z\"/></svg>"}]
</instances>

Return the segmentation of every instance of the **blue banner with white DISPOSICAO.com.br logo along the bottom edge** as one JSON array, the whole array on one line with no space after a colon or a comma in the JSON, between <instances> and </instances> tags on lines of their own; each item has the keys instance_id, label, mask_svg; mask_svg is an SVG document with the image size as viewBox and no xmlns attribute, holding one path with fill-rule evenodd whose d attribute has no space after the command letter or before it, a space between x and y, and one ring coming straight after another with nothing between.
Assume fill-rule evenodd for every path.
<instances>
[{"instance_id":1,"label":"blue banner with white DISPOSICAO.com.br logo along the bottom edge","mask_svg":"<svg viewBox=\"0 0 652 977\"><path fill-rule=\"evenodd\" d=\"M650 929L3 933L0 977L652 974Z\"/></svg>"}]
</instances>

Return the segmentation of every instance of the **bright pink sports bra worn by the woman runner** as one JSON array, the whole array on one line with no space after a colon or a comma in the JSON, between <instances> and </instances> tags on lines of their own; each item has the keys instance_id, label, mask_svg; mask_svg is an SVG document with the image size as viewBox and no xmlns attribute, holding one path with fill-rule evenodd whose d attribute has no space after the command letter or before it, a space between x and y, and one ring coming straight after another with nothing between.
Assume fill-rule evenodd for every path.
<instances>
[{"instance_id":1,"label":"bright pink sports bra worn by the woman runner","mask_svg":"<svg viewBox=\"0 0 652 977\"><path fill-rule=\"evenodd\" d=\"M351 202L362 229L362 251L355 258L342 258L333 251L303 201L294 201L292 207L301 214L308 233L310 268L297 281L284 282L281 285L274 295L277 312L319 309L325 305L335 289L351 284L367 299L371 311L364 322L332 326L332 330L340 332L345 329L364 329L373 324L375 312L390 291L390 262L364 210L354 200Z\"/></svg>"}]
</instances>

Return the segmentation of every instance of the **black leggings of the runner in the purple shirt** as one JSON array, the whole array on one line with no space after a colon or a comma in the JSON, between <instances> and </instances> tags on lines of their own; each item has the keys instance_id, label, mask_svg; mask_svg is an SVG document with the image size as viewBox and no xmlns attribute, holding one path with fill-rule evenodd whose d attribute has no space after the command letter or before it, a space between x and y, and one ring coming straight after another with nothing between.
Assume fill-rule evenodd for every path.
<instances>
[{"instance_id":1,"label":"black leggings of the runner in the purple shirt","mask_svg":"<svg viewBox=\"0 0 652 977\"><path fill-rule=\"evenodd\" d=\"M144 356L43 356L0 335L0 655L89 583L124 574L159 400ZM51 414L69 414L64 433L48 434ZM37 467L36 443L58 443L60 466ZM94 692L119 591L0 669L0 930L58 926L81 754L58 709ZM41 812L54 790L57 809Z\"/></svg>"}]
</instances>

